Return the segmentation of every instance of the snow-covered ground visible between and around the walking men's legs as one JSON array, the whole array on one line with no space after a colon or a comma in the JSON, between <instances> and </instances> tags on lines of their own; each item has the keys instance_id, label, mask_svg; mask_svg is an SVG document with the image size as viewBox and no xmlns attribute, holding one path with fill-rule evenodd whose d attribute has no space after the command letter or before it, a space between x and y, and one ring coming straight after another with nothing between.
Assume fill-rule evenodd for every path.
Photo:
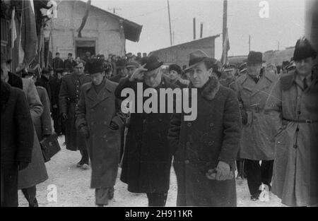
<instances>
[{"instance_id":1,"label":"snow-covered ground visible between and around the walking men's legs","mask_svg":"<svg viewBox=\"0 0 318 221\"><path fill-rule=\"evenodd\" d=\"M90 169L83 170L76 167L81 159L80 153L66 150L64 136L59 138L61 151L52 160L46 163L49 179L37 185L37 201L39 206L45 207L81 207L95 206L95 191L90 189ZM114 199L108 206L147 206L148 201L145 193L129 193L126 184L119 180L114 186ZM54 198L54 191L56 190ZM237 180L237 206L245 207L269 207L283 206L281 201L272 193L268 202L251 201L249 198L247 181ZM177 200L177 180L171 169L170 190L167 197L167 206L175 206ZM19 191L19 206L28 206L23 193Z\"/></svg>"}]
</instances>

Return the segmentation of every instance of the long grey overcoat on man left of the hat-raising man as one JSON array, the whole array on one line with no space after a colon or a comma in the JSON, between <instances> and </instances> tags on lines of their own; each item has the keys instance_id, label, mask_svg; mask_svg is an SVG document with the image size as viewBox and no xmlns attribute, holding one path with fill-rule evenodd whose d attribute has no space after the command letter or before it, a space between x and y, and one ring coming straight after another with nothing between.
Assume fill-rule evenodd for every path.
<instances>
[{"instance_id":1,"label":"long grey overcoat on man left of the hat-raising man","mask_svg":"<svg viewBox=\"0 0 318 221\"><path fill-rule=\"evenodd\" d=\"M88 129L88 155L92 163L90 188L112 187L115 184L119 163L120 131L124 126L124 114L119 109L119 100L114 96L117 83L105 80L97 94L92 83L81 88L81 97L76 107L76 126ZM114 121L119 129L110 129Z\"/></svg>"}]
</instances>

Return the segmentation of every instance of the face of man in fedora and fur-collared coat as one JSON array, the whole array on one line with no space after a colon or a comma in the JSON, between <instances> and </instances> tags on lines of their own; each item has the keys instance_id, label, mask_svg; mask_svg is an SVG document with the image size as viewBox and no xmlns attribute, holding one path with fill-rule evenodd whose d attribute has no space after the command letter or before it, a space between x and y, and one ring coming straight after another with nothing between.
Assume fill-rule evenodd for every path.
<instances>
[{"instance_id":1,"label":"face of man in fedora and fur-collared coat","mask_svg":"<svg viewBox=\"0 0 318 221\"><path fill-rule=\"evenodd\" d=\"M212 68L207 69L206 65L201 62L189 71L189 80L194 88L202 88L211 76Z\"/></svg>"}]
</instances>

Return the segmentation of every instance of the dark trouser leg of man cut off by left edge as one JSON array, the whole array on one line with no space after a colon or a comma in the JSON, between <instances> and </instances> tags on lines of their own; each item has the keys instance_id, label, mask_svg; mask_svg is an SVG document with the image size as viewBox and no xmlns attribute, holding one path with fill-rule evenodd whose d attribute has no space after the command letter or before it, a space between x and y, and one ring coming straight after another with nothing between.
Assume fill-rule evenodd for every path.
<instances>
[{"instance_id":1,"label":"dark trouser leg of man cut off by left edge","mask_svg":"<svg viewBox=\"0 0 318 221\"><path fill-rule=\"evenodd\" d=\"M1 207L18 206L18 164L1 164Z\"/></svg>"}]
</instances>

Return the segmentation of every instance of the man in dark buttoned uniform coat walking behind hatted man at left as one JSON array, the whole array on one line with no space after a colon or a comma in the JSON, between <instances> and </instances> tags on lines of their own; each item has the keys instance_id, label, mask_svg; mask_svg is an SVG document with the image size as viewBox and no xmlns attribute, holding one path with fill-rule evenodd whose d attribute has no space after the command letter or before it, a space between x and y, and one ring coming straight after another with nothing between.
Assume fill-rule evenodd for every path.
<instances>
[{"instance_id":1,"label":"man in dark buttoned uniform coat walking behind hatted man at left","mask_svg":"<svg viewBox=\"0 0 318 221\"><path fill-rule=\"evenodd\" d=\"M74 73L62 78L59 91L59 112L65 121L65 141L67 150L80 150L82 158L77 167L88 169L88 152L85 138L78 133L75 126L75 109L79 100L81 85L91 81L90 76L84 74L84 61L78 61Z\"/></svg>"}]
</instances>

